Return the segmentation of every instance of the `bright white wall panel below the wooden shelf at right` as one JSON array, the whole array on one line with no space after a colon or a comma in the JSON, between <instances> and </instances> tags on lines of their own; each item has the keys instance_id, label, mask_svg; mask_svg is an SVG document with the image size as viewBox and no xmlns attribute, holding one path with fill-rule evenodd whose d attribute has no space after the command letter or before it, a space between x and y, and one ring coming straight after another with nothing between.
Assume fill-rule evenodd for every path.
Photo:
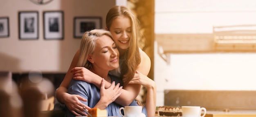
<instances>
[{"instance_id":1,"label":"bright white wall panel below the wooden shelf at right","mask_svg":"<svg viewBox=\"0 0 256 117\"><path fill-rule=\"evenodd\" d=\"M171 54L166 89L256 91L256 53ZM167 87L168 86L168 87Z\"/></svg>"}]
</instances>

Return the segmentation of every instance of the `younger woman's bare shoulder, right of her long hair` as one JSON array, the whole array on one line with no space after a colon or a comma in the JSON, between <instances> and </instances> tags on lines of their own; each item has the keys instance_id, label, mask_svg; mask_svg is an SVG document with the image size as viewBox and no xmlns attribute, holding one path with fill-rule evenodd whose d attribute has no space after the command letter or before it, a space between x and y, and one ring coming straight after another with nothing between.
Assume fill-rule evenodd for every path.
<instances>
[{"instance_id":1,"label":"younger woman's bare shoulder, right of her long hair","mask_svg":"<svg viewBox=\"0 0 256 117\"><path fill-rule=\"evenodd\" d=\"M141 51L141 62L137 68L137 71L144 75L148 75L151 67L151 61L148 55L144 52Z\"/></svg>"}]
</instances>

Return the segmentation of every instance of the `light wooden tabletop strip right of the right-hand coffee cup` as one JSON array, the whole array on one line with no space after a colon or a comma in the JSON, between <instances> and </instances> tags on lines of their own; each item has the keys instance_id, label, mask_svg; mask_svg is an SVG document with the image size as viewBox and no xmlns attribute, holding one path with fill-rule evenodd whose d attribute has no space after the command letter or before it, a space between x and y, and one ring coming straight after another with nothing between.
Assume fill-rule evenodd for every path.
<instances>
[{"instance_id":1,"label":"light wooden tabletop strip right of the right-hand coffee cup","mask_svg":"<svg viewBox=\"0 0 256 117\"><path fill-rule=\"evenodd\" d=\"M229 112L207 110L205 117L256 117L256 110L230 110Z\"/></svg>"}]
</instances>

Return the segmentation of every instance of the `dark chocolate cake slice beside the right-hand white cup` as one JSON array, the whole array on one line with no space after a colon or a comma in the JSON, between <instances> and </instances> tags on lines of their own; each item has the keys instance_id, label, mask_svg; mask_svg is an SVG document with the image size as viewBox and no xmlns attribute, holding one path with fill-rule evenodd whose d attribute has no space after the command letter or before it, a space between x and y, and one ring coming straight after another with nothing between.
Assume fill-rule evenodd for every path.
<instances>
[{"instance_id":1,"label":"dark chocolate cake slice beside the right-hand white cup","mask_svg":"<svg viewBox=\"0 0 256 117\"><path fill-rule=\"evenodd\" d=\"M166 117L181 117L182 109L180 107L159 106L157 110L157 115Z\"/></svg>"}]
</instances>

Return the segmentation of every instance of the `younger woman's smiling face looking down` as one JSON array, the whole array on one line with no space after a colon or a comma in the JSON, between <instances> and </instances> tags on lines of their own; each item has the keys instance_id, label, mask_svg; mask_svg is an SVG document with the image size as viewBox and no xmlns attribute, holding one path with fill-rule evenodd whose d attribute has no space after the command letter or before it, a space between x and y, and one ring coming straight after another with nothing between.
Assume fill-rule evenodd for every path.
<instances>
[{"instance_id":1,"label":"younger woman's smiling face looking down","mask_svg":"<svg viewBox=\"0 0 256 117\"><path fill-rule=\"evenodd\" d=\"M120 49L128 49L131 30L131 20L124 15L115 18L109 29Z\"/></svg>"}]
</instances>

